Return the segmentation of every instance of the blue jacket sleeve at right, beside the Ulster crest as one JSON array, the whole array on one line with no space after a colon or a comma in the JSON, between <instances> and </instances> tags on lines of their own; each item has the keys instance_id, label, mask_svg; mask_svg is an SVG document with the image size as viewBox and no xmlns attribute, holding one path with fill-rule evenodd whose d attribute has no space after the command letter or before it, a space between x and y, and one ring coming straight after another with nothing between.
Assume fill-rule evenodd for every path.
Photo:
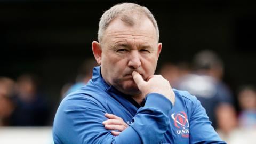
<instances>
[{"instance_id":1,"label":"blue jacket sleeve at right, beside the Ulster crest","mask_svg":"<svg viewBox=\"0 0 256 144\"><path fill-rule=\"evenodd\" d=\"M226 143L212 127L201 103L195 98L193 104L189 123L190 143Z\"/></svg>"}]
</instances>

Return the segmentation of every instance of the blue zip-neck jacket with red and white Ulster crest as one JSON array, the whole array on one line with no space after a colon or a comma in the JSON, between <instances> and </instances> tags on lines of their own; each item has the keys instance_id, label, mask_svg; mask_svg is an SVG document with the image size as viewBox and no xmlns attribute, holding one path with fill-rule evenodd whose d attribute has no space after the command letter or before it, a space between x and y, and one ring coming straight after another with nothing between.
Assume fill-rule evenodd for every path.
<instances>
[{"instance_id":1,"label":"blue zip-neck jacket with red and white Ulster crest","mask_svg":"<svg viewBox=\"0 0 256 144\"><path fill-rule=\"evenodd\" d=\"M148 94L141 107L109 86L100 67L95 67L91 81L60 103L53 124L54 143L225 143L196 97L173 91L174 107L157 93ZM114 137L102 125L105 113L121 117L129 127Z\"/></svg>"}]
</instances>

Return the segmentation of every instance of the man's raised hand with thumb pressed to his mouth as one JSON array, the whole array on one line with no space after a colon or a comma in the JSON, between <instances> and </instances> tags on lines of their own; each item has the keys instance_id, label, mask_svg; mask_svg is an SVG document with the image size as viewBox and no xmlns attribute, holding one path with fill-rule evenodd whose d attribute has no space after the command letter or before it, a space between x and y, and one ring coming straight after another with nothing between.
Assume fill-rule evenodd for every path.
<instances>
[{"instance_id":1,"label":"man's raised hand with thumb pressed to his mouth","mask_svg":"<svg viewBox=\"0 0 256 144\"><path fill-rule=\"evenodd\" d=\"M147 95L149 93L159 93L164 95L167 99L175 103L175 94L170 86L169 81L163 78L161 75L149 76L147 81L141 77L136 71L132 72L132 77L134 82L137 84L138 89L141 91L142 95Z\"/></svg>"}]
</instances>

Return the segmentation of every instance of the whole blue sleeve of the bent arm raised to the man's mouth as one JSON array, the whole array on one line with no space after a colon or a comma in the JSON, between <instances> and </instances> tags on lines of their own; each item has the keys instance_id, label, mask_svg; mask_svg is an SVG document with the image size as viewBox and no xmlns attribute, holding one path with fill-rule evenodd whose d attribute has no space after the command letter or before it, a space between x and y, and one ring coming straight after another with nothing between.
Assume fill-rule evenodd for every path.
<instances>
[{"instance_id":1,"label":"whole blue sleeve of the bent arm raised to the man's mouth","mask_svg":"<svg viewBox=\"0 0 256 144\"><path fill-rule=\"evenodd\" d=\"M102 122L107 111L85 97L67 99L60 104L53 124L57 143L159 143L169 125L172 103L161 94L150 93L133 117L133 123L114 137Z\"/></svg>"}]
</instances>

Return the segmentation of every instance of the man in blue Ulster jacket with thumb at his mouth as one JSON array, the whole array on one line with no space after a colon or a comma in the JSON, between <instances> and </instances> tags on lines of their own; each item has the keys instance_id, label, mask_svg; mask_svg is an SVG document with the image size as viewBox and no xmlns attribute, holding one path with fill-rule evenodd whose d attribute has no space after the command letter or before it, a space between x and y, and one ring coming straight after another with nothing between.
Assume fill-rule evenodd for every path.
<instances>
[{"instance_id":1,"label":"man in blue Ulster jacket with thumb at his mouth","mask_svg":"<svg viewBox=\"0 0 256 144\"><path fill-rule=\"evenodd\" d=\"M92 50L100 67L61 102L55 143L225 143L195 97L154 75L162 43L146 7L111 7L101 17L98 40Z\"/></svg>"}]
</instances>

